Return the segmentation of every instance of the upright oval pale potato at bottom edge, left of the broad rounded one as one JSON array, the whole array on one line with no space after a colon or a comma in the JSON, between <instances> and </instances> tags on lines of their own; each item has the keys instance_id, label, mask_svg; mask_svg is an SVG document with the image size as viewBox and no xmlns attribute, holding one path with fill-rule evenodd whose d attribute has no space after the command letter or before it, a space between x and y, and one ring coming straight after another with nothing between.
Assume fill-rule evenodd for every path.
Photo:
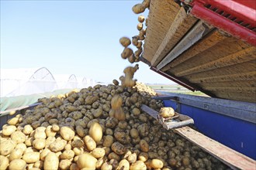
<instances>
[{"instance_id":1,"label":"upright oval pale potato at bottom edge, left of the broad rounded one","mask_svg":"<svg viewBox=\"0 0 256 170\"><path fill-rule=\"evenodd\" d=\"M53 152L47 154L43 162L43 169L57 170L59 166L59 158Z\"/></svg>"}]
</instances>

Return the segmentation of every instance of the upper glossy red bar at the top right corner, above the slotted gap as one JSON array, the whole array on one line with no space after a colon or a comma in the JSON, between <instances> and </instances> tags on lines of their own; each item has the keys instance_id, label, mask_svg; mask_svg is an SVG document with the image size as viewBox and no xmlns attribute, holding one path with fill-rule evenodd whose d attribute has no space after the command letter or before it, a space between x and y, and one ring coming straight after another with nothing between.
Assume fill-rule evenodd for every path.
<instances>
[{"instance_id":1,"label":"upper glossy red bar at the top right corner, above the slotted gap","mask_svg":"<svg viewBox=\"0 0 256 170\"><path fill-rule=\"evenodd\" d=\"M223 12L249 23L252 27L256 26L255 0L240 0L237 2L234 0L194 0L191 4L194 5L195 2L201 2L203 5L213 5L213 7L220 8Z\"/></svg>"}]
</instances>

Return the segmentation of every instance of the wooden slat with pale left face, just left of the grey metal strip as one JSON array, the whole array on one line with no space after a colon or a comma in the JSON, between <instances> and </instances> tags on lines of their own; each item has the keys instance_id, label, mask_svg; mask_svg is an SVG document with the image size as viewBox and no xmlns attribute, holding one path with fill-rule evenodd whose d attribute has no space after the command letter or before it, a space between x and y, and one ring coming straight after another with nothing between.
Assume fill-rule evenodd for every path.
<instances>
[{"instance_id":1,"label":"wooden slat with pale left face, just left of the grey metal strip","mask_svg":"<svg viewBox=\"0 0 256 170\"><path fill-rule=\"evenodd\" d=\"M195 17L187 15L184 8L180 8L161 45L154 54L151 65L157 66L157 64L161 62L161 59L163 59L175 44L182 39L182 36L191 29L197 20L198 19L195 19Z\"/></svg>"}]
</instances>

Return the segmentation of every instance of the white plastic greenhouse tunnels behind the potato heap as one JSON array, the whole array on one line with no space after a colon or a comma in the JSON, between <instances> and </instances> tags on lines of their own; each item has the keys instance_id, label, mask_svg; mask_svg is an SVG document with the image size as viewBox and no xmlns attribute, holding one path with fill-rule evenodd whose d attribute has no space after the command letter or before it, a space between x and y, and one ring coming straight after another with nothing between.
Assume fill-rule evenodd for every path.
<instances>
[{"instance_id":1,"label":"white plastic greenhouse tunnels behind the potato heap","mask_svg":"<svg viewBox=\"0 0 256 170\"><path fill-rule=\"evenodd\" d=\"M0 107L8 110L35 103L39 98L95 86L95 81L74 74L53 75L46 67L1 69Z\"/></svg>"}]
</instances>

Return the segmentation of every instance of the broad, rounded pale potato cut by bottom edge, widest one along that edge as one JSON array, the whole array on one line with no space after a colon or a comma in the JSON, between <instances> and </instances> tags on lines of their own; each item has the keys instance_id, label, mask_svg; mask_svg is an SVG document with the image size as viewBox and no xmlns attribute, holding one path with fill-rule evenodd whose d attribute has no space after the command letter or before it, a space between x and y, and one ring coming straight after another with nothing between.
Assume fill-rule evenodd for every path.
<instances>
[{"instance_id":1,"label":"broad, rounded pale potato cut by bottom edge, widest one along that edge","mask_svg":"<svg viewBox=\"0 0 256 170\"><path fill-rule=\"evenodd\" d=\"M95 169L97 161L98 160L89 153L84 153L79 155L77 164L79 168Z\"/></svg>"}]
</instances>

